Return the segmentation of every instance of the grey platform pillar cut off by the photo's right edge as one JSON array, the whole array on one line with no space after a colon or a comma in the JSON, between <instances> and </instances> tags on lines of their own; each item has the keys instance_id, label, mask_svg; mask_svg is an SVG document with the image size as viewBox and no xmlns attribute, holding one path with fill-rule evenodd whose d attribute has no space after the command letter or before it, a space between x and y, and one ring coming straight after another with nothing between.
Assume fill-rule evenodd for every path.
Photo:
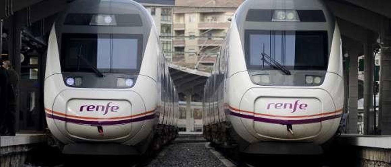
<instances>
[{"instance_id":1,"label":"grey platform pillar cut off by the photo's right edge","mask_svg":"<svg viewBox=\"0 0 391 167\"><path fill-rule=\"evenodd\" d=\"M379 129L391 135L391 21L385 21L381 34Z\"/></svg>"}]
</instances>

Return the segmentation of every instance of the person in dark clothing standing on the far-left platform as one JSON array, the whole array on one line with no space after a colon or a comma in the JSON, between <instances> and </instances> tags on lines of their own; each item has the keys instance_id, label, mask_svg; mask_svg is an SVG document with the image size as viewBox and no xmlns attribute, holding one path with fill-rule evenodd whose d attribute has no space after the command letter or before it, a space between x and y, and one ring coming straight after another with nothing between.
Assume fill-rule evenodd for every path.
<instances>
[{"instance_id":1,"label":"person in dark clothing standing on the far-left platform","mask_svg":"<svg viewBox=\"0 0 391 167\"><path fill-rule=\"evenodd\" d=\"M11 62L9 60L3 61L2 75L6 78L4 85L2 85L2 91L5 91L4 98L4 111L2 112L2 135L14 136L15 135L15 113L16 113L16 98L14 93L14 86L11 83L11 78L14 79L15 86L18 84L18 74L13 69L10 70ZM5 72L4 72L5 71ZM5 77L4 77L5 75ZM16 75L16 76L15 76ZM16 78L15 78L16 77ZM4 88L3 88L4 87Z\"/></svg>"}]
</instances>

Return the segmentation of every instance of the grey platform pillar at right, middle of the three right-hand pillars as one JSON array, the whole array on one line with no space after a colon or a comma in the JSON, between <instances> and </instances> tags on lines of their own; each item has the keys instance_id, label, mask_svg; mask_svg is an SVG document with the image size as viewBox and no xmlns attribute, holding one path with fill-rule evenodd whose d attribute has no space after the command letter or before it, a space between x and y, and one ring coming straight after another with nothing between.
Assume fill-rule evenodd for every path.
<instances>
[{"instance_id":1,"label":"grey platform pillar at right, middle of the three right-hand pillars","mask_svg":"<svg viewBox=\"0 0 391 167\"><path fill-rule=\"evenodd\" d=\"M372 39L368 33L368 41L364 44L364 134L373 133L373 70L374 56Z\"/></svg>"}]
</instances>

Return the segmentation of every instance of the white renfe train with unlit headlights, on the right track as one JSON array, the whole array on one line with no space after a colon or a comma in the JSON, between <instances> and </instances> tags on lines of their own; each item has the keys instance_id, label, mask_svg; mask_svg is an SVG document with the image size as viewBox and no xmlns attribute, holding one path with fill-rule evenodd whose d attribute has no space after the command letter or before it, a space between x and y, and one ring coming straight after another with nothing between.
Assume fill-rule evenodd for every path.
<instances>
[{"instance_id":1,"label":"white renfe train with unlit headlights, on the right track","mask_svg":"<svg viewBox=\"0 0 391 167\"><path fill-rule=\"evenodd\" d=\"M343 114L341 35L321 0L246 0L204 90L204 136L243 153L320 154Z\"/></svg>"}]
</instances>

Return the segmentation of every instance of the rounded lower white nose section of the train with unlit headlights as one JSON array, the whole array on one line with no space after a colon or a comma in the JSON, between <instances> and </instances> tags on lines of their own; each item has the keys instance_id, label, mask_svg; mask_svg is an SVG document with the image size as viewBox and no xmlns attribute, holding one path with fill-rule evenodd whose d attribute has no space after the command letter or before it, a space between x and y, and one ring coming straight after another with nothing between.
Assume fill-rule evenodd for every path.
<instances>
[{"instance_id":1,"label":"rounded lower white nose section of the train with unlit headlights","mask_svg":"<svg viewBox=\"0 0 391 167\"><path fill-rule=\"evenodd\" d=\"M253 88L244 94L240 110L250 111L247 126L255 135L278 140L310 140L338 116L331 96L322 89Z\"/></svg>"}]
</instances>

